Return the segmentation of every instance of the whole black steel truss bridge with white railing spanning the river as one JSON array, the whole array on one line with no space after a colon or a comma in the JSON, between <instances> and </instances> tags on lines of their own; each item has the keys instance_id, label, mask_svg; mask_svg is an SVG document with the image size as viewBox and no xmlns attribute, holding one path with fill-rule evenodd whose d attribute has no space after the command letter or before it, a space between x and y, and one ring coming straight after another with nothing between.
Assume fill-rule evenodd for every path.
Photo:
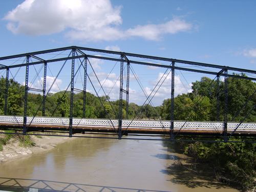
<instances>
[{"instance_id":1,"label":"whole black steel truss bridge with white railing spanning the river","mask_svg":"<svg viewBox=\"0 0 256 192\"><path fill-rule=\"evenodd\" d=\"M61 54L63 51L69 51L68 57ZM55 54L53 58L49 58L49 54ZM100 55L99 55L100 54ZM102 56L104 55L104 56ZM118 58L118 57L119 58ZM26 62L21 63L20 60L24 58ZM32 60L32 58L34 60ZM89 80L93 86L92 79L88 74L87 67L91 66L95 76L97 77L93 66L90 63L90 59L103 59L116 61L120 63L120 89L119 89L119 111L118 111L118 119L88 119L86 118L86 100L87 100L87 81ZM145 59L148 62L140 61L138 59ZM14 63L8 62L12 59L17 59ZM71 61L67 63L67 61ZM78 60L77 63L75 61ZM51 87L47 91L46 81L47 81L47 66L49 63L60 62L63 61L63 65L59 69L58 74L54 78ZM162 61L164 63L159 63ZM20 62L20 63L17 63ZM162 134L168 135L170 140L175 140L177 135L207 135L207 136L220 136L224 142L227 142L229 138L232 136L244 136L252 138L253 142L255 142L256 136L256 123L255 122L243 122L246 119L246 116L240 122L228 122L228 78L240 78L255 81L256 78L253 77L256 74L256 71L249 69L241 69L241 68L233 68L227 66L220 65L212 65L208 63L202 62L194 62L194 61L186 61L179 60L173 58L163 58L149 55L140 55L134 53L125 53L125 52L117 52L117 51L108 51L108 50L100 50L100 49L91 49L84 47L65 47L59 49L45 50L45 51L37 51L19 55L5 56L0 57L0 72L2 70L6 70L6 86L5 86L5 100L4 100L4 115L0 116L0 129L14 129L20 130L24 135L28 134L30 131L68 131L69 137L72 137L75 133L85 133L85 132L103 132L103 133L116 133L118 139L121 139L123 135L127 134ZM126 64L126 76L124 75L124 63ZM186 67L179 67L177 63L182 63ZM75 71L75 65L78 65L78 70L81 68L83 70L83 89L76 89L74 79L77 75L77 71ZM143 65L143 66L153 66L165 68L166 71L170 70L172 77L172 83L170 84L170 119L166 120L140 120L138 119L129 119L128 111L129 111L129 81L130 81L130 67L133 65ZM42 65L44 66L44 76L42 77L42 89L37 89L34 87L29 87L29 69L31 66ZM70 111L69 118L60 118L60 117L46 117L45 116L45 108L46 108L46 97L50 93L53 84L58 78L61 70L65 65L70 65L70 83L64 94L70 89ZM191 68L200 67L200 69ZM24 93L24 115L23 116L10 116L8 115L8 88L9 88L9 73L12 69L17 68L26 68L25 73L25 93ZM202 70L203 69L203 70ZM208 70L210 69L210 70ZM212 122L199 122L199 121L176 121L174 117L174 94L175 94L175 70L180 71L189 71L194 73L201 74L209 74L216 76L217 80L217 95L216 95L216 106L217 106L217 121ZM133 71L132 71L133 72ZM237 73L251 74L251 77L238 75ZM39 73L36 71L37 76ZM125 76L125 77L124 77ZM13 76L12 76L13 77ZM164 77L164 75L163 75ZM223 119L220 120L220 77L224 77L224 114ZM14 78L14 77L13 77ZM126 87L123 86L124 78L126 79ZM136 76L135 76L136 78ZM166 78L166 77L165 77ZM162 79L162 78L161 78ZM14 79L15 80L15 79ZM100 84L101 89L103 87L97 77L98 83ZM165 80L165 79L164 79ZM163 81L164 81L163 80ZM162 81L162 82L163 82ZM160 82L160 81L159 81ZM159 83L158 82L158 83ZM153 89L151 94L146 95L146 100L142 106L146 106L151 103L152 98L155 96L156 92L159 90L160 86ZM96 96L99 98L98 92L93 86ZM34 116L29 117L27 115L28 110L28 92L29 91L38 91L42 93L42 102ZM83 93L83 115L82 118L74 118L73 117L73 104L74 104L74 91L80 91ZM104 91L103 91L104 92ZM254 96L254 93L248 97L248 100ZM104 92L105 94L105 92ZM126 117L123 119L123 94L126 95ZM109 101L107 95L105 94L106 99ZM101 102L102 108L105 110L105 107ZM110 101L109 101L110 102ZM244 103L244 106L247 105L247 102ZM243 108L244 108L243 106ZM256 104L254 103L253 109L248 111L248 114L251 111L255 110ZM112 108L113 109L113 108ZM42 112L42 117L36 116L38 111ZM106 110L105 110L106 112ZM238 111L239 112L239 111ZM247 115L248 115L247 114ZM238 114L237 114L238 115ZM5 132L2 132L5 133Z\"/></svg>"}]
</instances>

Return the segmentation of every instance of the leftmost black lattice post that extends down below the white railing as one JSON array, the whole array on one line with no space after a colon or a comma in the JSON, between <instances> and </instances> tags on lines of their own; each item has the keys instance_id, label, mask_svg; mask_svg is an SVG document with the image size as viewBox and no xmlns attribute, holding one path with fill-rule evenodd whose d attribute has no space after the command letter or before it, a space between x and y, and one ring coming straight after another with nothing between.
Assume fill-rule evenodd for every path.
<instances>
[{"instance_id":1,"label":"leftmost black lattice post that extends down below the white railing","mask_svg":"<svg viewBox=\"0 0 256 192\"><path fill-rule=\"evenodd\" d=\"M30 56L27 55L27 64L29 64ZM29 83L29 65L26 66L26 77L25 77L25 95L24 95L24 114L23 114L23 135L27 132L27 106L28 106L28 83Z\"/></svg>"}]
</instances>

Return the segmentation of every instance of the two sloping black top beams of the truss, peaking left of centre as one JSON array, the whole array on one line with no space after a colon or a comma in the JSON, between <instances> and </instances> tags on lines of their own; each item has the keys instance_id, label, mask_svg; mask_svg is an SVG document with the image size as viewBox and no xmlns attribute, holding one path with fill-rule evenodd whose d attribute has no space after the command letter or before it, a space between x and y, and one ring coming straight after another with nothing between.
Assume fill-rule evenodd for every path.
<instances>
[{"instance_id":1,"label":"two sloping black top beams of the truss, peaking left of centre","mask_svg":"<svg viewBox=\"0 0 256 192\"><path fill-rule=\"evenodd\" d=\"M114 54L114 55L123 55L124 57L127 58L127 56L131 57L139 57L139 58L146 58L146 59L153 59L153 60L162 60L162 61L170 61L170 62L176 62L176 63L184 63L187 65L193 65L193 66L203 66L203 67L209 67L209 68L216 68L216 69L226 69L229 71L234 71L234 72L242 72L242 73L252 73L256 74L256 71L254 70L248 70L248 69L242 69L242 68L233 68L233 67L228 67L228 66L220 66L220 65L213 65L213 64L208 64L208 63L202 63L202 62L194 62L194 61L186 61L186 60L180 60L180 59L172 59L172 58L164 58L164 57L156 57L156 56L150 56L150 55L140 55L140 54L134 54L134 53L125 53L125 52L117 52L117 51L108 51L108 50L100 50L100 49L91 49L91 48L83 48L83 47L76 47L76 46L71 46L71 47L65 47L65 48L59 48L59 49L51 49L51 50L45 50L45 51L37 51L37 52L31 52L31 53L25 53L25 54L19 54L19 55L11 55L11 56L6 56L6 57L0 57L0 60L6 60L6 59L12 59L12 58L18 58L18 57L25 57L25 56L35 56L35 55L40 55L40 54L45 54L45 53L53 53L53 52L58 52L58 51L66 51L66 50L81 50L83 51L92 51L92 52L99 52L99 53L107 53L107 54ZM76 58L82 58L84 55L78 55L78 56L72 56L72 57L62 57L62 58L56 58L56 59L41 59L39 61L35 62L30 62L30 63L22 63L22 64L16 64L16 65L11 65L11 66L2 66L0 67L1 69L6 69L6 68L16 68L16 67L23 67L27 65L37 65L40 63L44 62L56 62L56 61L63 61L63 60L69 60L69 59L76 59ZM112 61L120 61L126 62L125 59L118 59L118 58L113 58L113 57L103 57L103 56L96 56L96 55L89 55L87 54L88 58L97 58L97 59L104 59L104 60L112 60ZM168 65L161 65L157 63L150 63L150 62L141 62L141 61L135 61L129 59L130 63L135 63L139 65L146 65L146 66L154 66L154 67L162 67L162 68L172 68L172 66ZM189 68L181 68L181 67L175 67L176 70L182 70L182 71L191 71L191 72L197 72L197 73L205 73L205 74L210 74L210 75L216 75L219 72L211 72L211 71L204 71L204 70L196 70L196 69L189 69ZM225 76L224 74L219 74L220 76ZM248 79L248 80L256 80L256 78L253 77L244 77L244 76L239 76L239 75L231 75L227 74L228 77L236 77L236 78L243 78L243 79Z\"/></svg>"}]
</instances>

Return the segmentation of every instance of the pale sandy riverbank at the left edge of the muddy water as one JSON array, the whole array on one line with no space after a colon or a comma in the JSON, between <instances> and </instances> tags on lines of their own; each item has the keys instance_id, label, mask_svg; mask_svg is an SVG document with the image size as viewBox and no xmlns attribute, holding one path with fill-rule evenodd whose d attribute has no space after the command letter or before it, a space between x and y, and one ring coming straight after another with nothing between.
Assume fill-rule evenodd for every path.
<instances>
[{"instance_id":1,"label":"pale sandy riverbank at the left edge of the muddy water","mask_svg":"<svg viewBox=\"0 0 256 192\"><path fill-rule=\"evenodd\" d=\"M36 136L31 136L31 139L35 143L35 146L23 147L15 138L8 141L8 143L3 146L3 151L0 152L0 163L15 160L17 158L28 157L34 153L49 151L57 144L75 138L56 136L42 136L41 138L38 138Z\"/></svg>"}]
</instances>

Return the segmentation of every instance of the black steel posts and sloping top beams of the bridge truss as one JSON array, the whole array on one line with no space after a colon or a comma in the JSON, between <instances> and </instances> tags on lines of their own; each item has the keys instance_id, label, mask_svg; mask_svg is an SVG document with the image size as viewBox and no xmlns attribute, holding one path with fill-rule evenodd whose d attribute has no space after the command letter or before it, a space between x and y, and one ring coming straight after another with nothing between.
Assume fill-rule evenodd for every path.
<instances>
[{"instance_id":1,"label":"black steel posts and sloping top beams of the bridge truss","mask_svg":"<svg viewBox=\"0 0 256 192\"><path fill-rule=\"evenodd\" d=\"M72 56L68 57L59 57L59 58L52 58L52 59L44 59L41 58L46 53L53 53L53 52L59 52L59 51L66 51L66 50L71 50ZM109 56L100 56L100 55L90 55L84 53L84 51L87 52L97 52L97 53L104 53L104 54L110 54ZM78 53L80 55L78 55ZM119 55L119 58L114 58L112 55ZM223 138L224 141L228 141L227 137L227 113L228 113L228 85L227 85L227 78L232 77L232 78L241 78L241 79L246 79L246 80L256 80L256 77L247 77L244 75L239 75L236 74L237 72L242 72L242 73L250 73L250 74L256 74L256 71L254 70L249 70L249 69L242 69L242 68L233 68L233 67L228 67L228 66L220 66L220 65L213 65L209 63L202 63L202 62L194 62L194 61L186 61L186 60L180 60L180 59L173 59L173 58L165 58L165 57L156 57L156 56L150 56L150 55L141 55L141 54L134 54L134 53L125 53L125 52L117 52L117 51L108 51L108 50L100 50L100 49L92 49L92 48L83 48L83 47L76 47L76 46L71 46L71 47L65 47L65 48L59 48L59 49L51 49L51 50L45 50L45 51L37 51L37 52L31 52L31 53L25 53L25 54L18 54L18 55L12 55L12 56L5 56L5 57L0 57L0 60L8 60L8 59L13 59L13 58L19 58L19 57L26 57L27 62L26 63L19 63L15 65L2 65L0 64L0 70L6 69L6 89L5 89L5 106L4 106L4 114L7 115L7 105L8 105L8 87L9 87L9 70L12 68L19 68L19 67L26 67L26 76L25 76L25 96L24 96L24 122L23 122L23 134L26 134L27 132L27 98L28 98L28 91L40 91L42 92L43 95L43 100L42 100L42 116L45 116L45 101L46 101L46 78L47 78L47 65L48 63L51 62L57 62L57 61L65 61L71 60L72 65L71 65L71 82L70 82L70 117L69 117L69 136L72 137L73 135L73 95L74 91L81 91L83 92L83 115L82 117L86 117L86 88L87 88L87 77L91 81L90 77L88 76L87 73L87 63L88 63L88 58L96 58L96 59L103 59L103 60L111 60L111 61L117 61L120 62L120 91L119 91L119 114L118 114L118 139L121 139L123 135L122 131L122 93L126 94L126 116L125 118L128 119L128 114L129 114L129 80L130 80L130 64L134 63L136 65L145 65L145 66L153 66L153 67L160 67L160 68L166 68L171 69L172 72L172 83L170 85L170 90L171 90L171 105L170 105L170 139L174 140L174 93L175 93L175 70L181 70L181 71L189 71L189 72L196 72L196 73L203 73L203 74L210 74L210 75L215 75L217 77L217 121L220 120L220 103L219 103L219 97L220 97L220 76L224 76L224 94L225 94L225 105L224 105L224 119L223 119ZM152 59L157 61L167 61L171 62L172 65L164 65L164 64L159 64L159 63L152 63L152 62L142 62L142 61L136 61L132 60L128 57L133 57L133 58L145 58L145 59ZM32 61L30 58L35 58L37 61ZM84 64L83 64L83 69L84 69L84 76L83 76L83 90L78 90L74 88L74 68L75 68L75 59L80 59L84 58ZM81 61L81 60L80 60ZM126 83L126 90L123 89L123 70L124 70L124 62L127 63L127 83ZM30 88L28 86L28 78L29 78L29 66L31 65L38 65L38 64L44 64L44 83L43 83L43 88L42 90L35 89L35 88ZM63 66L65 65L63 64ZM178 67L175 65L175 63L183 63L188 65L188 67ZM89 64L91 66L91 63L89 61ZM81 61L82 65L82 61ZM207 71L205 70L197 70L197 69L191 69L189 67L192 66L201 66L201 67L206 67L210 69L221 69L220 71L214 72L214 71ZM63 66L61 67L60 71L62 70ZM92 66L91 66L92 67ZM59 71L59 73L60 73ZM228 74L228 71L233 72L232 74ZM59 74L58 73L58 74ZM95 72L94 72L95 73ZM37 74L38 75L38 74ZM96 74L95 74L96 75ZM97 77L97 76L96 76ZM56 77L57 78L57 77ZM56 80L55 78L55 80ZM54 82L55 82L54 80ZM54 83L53 82L53 83ZM53 85L52 83L52 85ZM92 82L91 82L92 83ZM93 86L93 85L92 85ZM52 87L52 86L51 86ZM102 88L102 87L101 87ZM103 88L102 88L103 89ZM95 90L96 91L96 90ZM48 91L49 92L49 91ZM97 94L97 92L96 92ZM154 97L154 96L153 96ZM152 97L152 98L153 98ZM152 99L151 98L151 99ZM102 104L102 103L101 103ZM242 123L242 122L241 122ZM241 124L240 123L240 124ZM181 128L182 129L182 128ZM234 130L236 131L236 130ZM124 131L125 132L125 131ZM232 133L233 134L233 133ZM176 134L177 135L177 134Z\"/></svg>"}]
</instances>

